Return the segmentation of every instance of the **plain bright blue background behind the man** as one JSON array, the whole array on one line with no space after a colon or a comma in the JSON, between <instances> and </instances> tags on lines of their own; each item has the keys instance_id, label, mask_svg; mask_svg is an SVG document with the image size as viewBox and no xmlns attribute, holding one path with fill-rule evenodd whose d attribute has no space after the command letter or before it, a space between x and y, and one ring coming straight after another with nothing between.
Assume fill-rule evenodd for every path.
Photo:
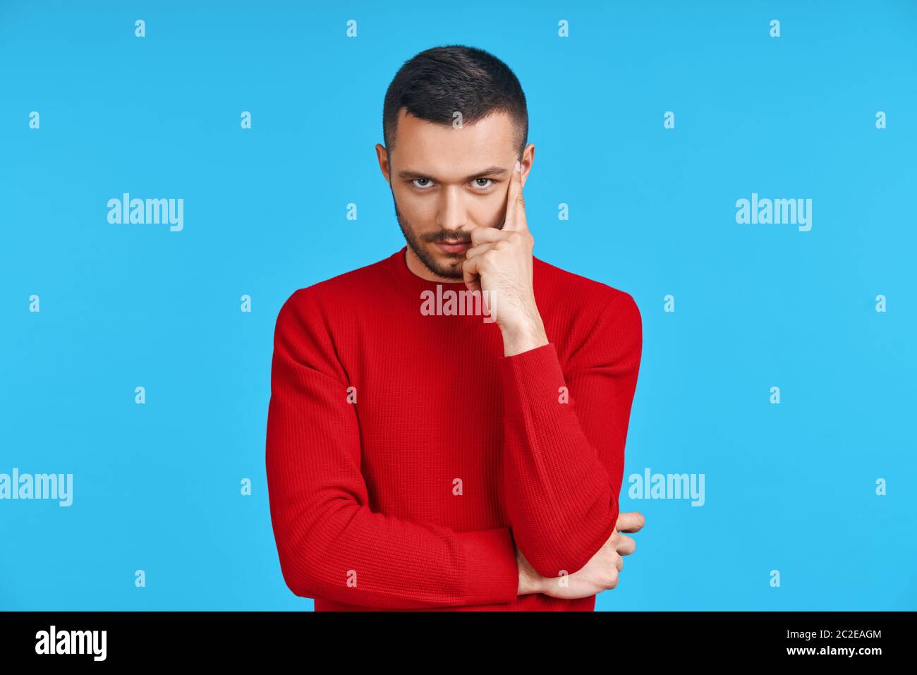
<instances>
[{"instance_id":1,"label":"plain bright blue background behind the man","mask_svg":"<svg viewBox=\"0 0 917 675\"><path fill-rule=\"evenodd\" d=\"M403 246L382 97L450 43L523 84L536 256L642 312L646 527L597 609L917 609L914 2L0 2L0 472L74 474L69 508L0 501L0 609L312 607L271 532L274 322ZM124 192L183 231L109 225ZM737 225L753 192L812 230ZM705 505L629 499L647 467Z\"/></svg>"}]
</instances>

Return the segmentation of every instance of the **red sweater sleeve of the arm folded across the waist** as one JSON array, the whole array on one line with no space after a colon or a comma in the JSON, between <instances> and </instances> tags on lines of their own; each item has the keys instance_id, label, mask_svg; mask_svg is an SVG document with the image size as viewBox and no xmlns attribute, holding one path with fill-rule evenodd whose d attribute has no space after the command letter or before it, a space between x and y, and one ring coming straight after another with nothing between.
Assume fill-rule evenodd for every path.
<instances>
[{"instance_id":1,"label":"red sweater sleeve of the arm folded across the waist","mask_svg":"<svg viewBox=\"0 0 917 675\"><path fill-rule=\"evenodd\" d=\"M283 304L271 364L265 463L287 586L375 609L514 602L508 527L455 532L370 510L356 405L309 291Z\"/></svg>"}]
</instances>

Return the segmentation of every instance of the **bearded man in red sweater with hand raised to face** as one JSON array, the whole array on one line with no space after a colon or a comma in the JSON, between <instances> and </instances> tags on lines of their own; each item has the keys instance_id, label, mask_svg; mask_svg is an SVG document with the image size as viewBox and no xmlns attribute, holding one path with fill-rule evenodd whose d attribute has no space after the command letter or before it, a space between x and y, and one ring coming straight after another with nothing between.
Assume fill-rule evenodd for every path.
<instances>
[{"instance_id":1,"label":"bearded man in red sweater with hand raised to face","mask_svg":"<svg viewBox=\"0 0 917 675\"><path fill-rule=\"evenodd\" d=\"M635 548L618 492L640 313L532 255L527 133L491 54L404 63L376 149L407 245L280 310L271 522L317 611L591 611Z\"/></svg>"}]
</instances>

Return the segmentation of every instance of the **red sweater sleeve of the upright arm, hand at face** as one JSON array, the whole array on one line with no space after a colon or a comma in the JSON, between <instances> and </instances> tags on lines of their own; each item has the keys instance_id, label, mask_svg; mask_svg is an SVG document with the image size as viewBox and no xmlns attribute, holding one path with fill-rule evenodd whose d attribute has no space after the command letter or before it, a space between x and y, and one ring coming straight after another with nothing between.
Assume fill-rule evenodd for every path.
<instances>
[{"instance_id":1,"label":"red sweater sleeve of the upright arm, hand at face","mask_svg":"<svg viewBox=\"0 0 917 675\"><path fill-rule=\"evenodd\" d=\"M639 309L619 291L566 377L553 342L501 359L503 498L543 576L582 569L614 532L642 343Z\"/></svg>"}]
</instances>

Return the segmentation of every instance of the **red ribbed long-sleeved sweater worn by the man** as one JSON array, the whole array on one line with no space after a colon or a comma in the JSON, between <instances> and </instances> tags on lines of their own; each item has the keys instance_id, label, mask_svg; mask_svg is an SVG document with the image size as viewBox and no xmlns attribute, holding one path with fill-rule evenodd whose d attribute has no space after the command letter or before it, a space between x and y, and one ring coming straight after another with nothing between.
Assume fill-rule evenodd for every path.
<instances>
[{"instance_id":1,"label":"red ribbed long-sleeved sweater worn by the man","mask_svg":"<svg viewBox=\"0 0 917 675\"><path fill-rule=\"evenodd\" d=\"M277 317L266 469L284 581L316 611L593 610L594 595L517 596L514 545L558 577L613 533L634 298L536 258L550 344L504 357L481 315L421 313L437 282L405 249Z\"/></svg>"}]
</instances>

